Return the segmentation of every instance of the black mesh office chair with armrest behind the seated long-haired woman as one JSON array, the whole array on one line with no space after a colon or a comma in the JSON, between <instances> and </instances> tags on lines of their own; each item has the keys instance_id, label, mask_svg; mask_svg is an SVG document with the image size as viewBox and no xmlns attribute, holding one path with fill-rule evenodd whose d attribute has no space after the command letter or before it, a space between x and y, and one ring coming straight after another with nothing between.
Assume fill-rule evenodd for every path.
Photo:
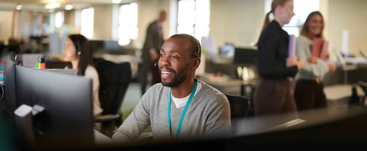
<instances>
[{"instance_id":1,"label":"black mesh office chair with armrest behind the seated long-haired woman","mask_svg":"<svg viewBox=\"0 0 367 151\"><path fill-rule=\"evenodd\" d=\"M104 59L94 59L93 62L99 76L99 101L103 109L95 122L101 122L101 133L111 138L116 126L123 122L120 107L131 82L131 65Z\"/></svg>"}]
</instances>

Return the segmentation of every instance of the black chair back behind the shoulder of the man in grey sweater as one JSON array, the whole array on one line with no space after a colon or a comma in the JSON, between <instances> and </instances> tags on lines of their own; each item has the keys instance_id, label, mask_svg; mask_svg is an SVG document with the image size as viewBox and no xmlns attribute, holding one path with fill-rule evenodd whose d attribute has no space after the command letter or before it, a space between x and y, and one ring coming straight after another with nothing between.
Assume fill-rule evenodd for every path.
<instances>
[{"instance_id":1,"label":"black chair back behind the shoulder of the man in grey sweater","mask_svg":"<svg viewBox=\"0 0 367 151\"><path fill-rule=\"evenodd\" d=\"M229 102L230 119L232 124L232 133L236 130L236 120L240 119L242 122L246 118L248 110L250 109L250 100L244 96L224 94ZM241 124L239 124L241 125Z\"/></svg>"}]
</instances>

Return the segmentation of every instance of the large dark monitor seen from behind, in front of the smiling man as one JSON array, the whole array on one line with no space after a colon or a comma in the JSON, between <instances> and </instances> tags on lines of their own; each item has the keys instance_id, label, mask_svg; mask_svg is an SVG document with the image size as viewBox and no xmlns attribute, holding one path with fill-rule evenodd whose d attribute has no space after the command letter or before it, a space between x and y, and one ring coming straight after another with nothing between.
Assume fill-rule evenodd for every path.
<instances>
[{"instance_id":1,"label":"large dark monitor seen from behind, in front of the smiling man","mask_svg":"<svg viewBox=\"0 0 367 151\"><path fill-rule=\"evenodd\" d=\"M32 120L36 146L94 144L91 79L19 65L15 75L17 105L45 108Z\"/></svg>"}]
</instances>

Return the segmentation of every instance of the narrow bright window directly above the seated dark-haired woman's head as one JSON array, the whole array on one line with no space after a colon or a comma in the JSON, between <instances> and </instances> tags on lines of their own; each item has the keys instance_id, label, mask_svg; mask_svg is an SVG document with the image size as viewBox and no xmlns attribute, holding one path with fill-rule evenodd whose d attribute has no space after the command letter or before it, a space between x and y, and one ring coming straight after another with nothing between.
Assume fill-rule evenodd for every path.
<instances>
[{"instance_id":1,"label":"narrow bright window directly above the seated dark-haired woman's head","mask_svg":"<svg viewBox=\"0 0 367 151\"><path fill-rule=\"evenodd\" d=\"M84 8L80 12L80 34L88 39L93 38L94 8Z\"/></svg>"}]
</instances>

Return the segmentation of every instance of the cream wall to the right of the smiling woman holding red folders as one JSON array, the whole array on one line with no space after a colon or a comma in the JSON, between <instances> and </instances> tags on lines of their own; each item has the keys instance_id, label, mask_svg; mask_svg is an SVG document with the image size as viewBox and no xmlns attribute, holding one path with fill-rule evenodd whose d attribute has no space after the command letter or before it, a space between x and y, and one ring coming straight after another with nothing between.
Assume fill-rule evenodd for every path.
<instances>
[{"instance_id":1,"label":"cream wall to the right of the smiling woman holding red folders","mask_svg":"<svg viewBox=\"0 0 367 151\"><path fill-rule=\"evenodd\" d=\"M342 30L349 31L349 52L367 52L367 0L330 0L328 39L332 49L342 48Z\"/></svg>"}]
</instances>

